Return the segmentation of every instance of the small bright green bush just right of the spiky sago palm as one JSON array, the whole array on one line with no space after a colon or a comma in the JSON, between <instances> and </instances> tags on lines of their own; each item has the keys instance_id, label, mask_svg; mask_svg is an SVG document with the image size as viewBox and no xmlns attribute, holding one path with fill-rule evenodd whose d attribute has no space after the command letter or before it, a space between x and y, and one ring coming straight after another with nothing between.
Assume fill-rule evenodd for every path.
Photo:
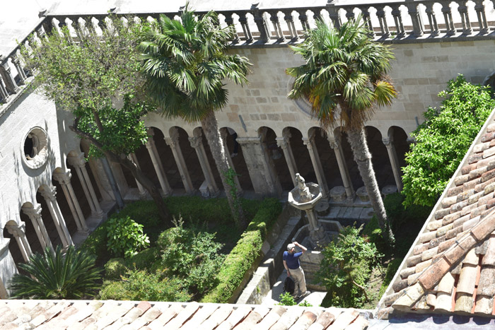
<instances>
[{"instance_id":1,"label":"small bright green bush just right of the spiky sago palm","mask_svg":"<svg viewBox=\"0 0 495 330\"><path fill-rule=\"evenodd\" d=\"M149 245L148 236L143 233L143 225L134 222L129 216L112 218L107 221L107 247L113 254L129 258Z\"/></svg>"}]
</instances>

